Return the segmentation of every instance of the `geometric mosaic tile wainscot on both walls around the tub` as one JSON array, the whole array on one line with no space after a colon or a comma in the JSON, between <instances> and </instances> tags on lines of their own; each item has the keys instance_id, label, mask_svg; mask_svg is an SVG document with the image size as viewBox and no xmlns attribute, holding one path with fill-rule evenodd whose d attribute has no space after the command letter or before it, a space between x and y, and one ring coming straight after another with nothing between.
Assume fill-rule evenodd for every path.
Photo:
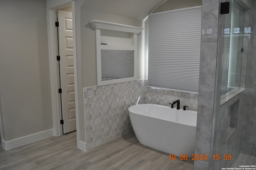
<instances>
[{"instance_id":1,"label":"geometric mosaic tile wainscot on both walls around the tub","mask_svg":"<svg viewBox=\"0 0 256 170\"><path fill-rule=\"evenodd\" d=\"M147 87L147 80L84 88L84 114L87 150L132 132L128 108L150 103L170 106L180 99L180 107L197 110L197 94Z\"/></svg>"}]
</instances>

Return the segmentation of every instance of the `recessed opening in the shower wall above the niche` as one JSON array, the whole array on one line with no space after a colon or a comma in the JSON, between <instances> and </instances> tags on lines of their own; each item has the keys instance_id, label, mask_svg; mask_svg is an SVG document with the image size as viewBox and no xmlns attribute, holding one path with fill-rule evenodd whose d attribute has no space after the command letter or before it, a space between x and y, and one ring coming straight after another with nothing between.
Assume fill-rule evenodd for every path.
<instances>
[{"instance_id":1,"label":"recessed opening in the shower wall above the niche","mask_svg":"<svg viewBox=\"0 0 256 170\"><path fill-rule=\"evenodd\" d=\"M234 0L226 2L230 12L224 14L221 99L240 89L243 59L244 9Z\"/></svg>"}]
</instances>

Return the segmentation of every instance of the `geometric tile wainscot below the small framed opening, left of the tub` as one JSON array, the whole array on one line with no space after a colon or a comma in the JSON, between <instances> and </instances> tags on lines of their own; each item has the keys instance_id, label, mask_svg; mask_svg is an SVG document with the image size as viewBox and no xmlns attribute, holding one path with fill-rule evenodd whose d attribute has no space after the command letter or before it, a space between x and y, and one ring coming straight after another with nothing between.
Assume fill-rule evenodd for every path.
<instances>
[{"instance_id":1,"label":"geometric tile wainscot below the small framed opening, left of the tub","mask_svg":"<svg viewBox=\"0 0 256 170\"><path fill-rule=\"evenodd\" d=\"M132 131L128 108L143 88L144 80L84 88L87 150Z\"/></svg>"}]
</instances>

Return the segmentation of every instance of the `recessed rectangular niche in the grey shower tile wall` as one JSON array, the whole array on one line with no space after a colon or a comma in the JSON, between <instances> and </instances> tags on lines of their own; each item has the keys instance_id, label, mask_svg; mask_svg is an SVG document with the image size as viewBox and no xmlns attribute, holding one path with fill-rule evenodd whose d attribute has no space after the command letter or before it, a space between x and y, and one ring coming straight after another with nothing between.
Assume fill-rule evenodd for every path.
<instances>
[{"instance_id":1,"label":"recessed rectangular niche in the grey shower tile wall","mask_svg":"<svg viewBox=\"0 0 256 170\"><path fill-rule=\"evenodd\" d=\"M228 128L226 132L226 140L236 131L237 120L238 120L239 100L234 102L228 108Z\"/></svg>"}]
</instances>

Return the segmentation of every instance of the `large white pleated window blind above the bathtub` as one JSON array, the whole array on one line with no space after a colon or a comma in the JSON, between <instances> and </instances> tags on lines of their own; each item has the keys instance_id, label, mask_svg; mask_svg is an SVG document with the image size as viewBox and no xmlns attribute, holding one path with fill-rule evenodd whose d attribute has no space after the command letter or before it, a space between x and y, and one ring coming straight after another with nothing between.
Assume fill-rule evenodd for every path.
<instances>
[{"instance_id":1,"label":"large white pleated window blind above the bathtub","mask_svg":"<svg viewBox=\"0 0 256 170\"><path fill-rule=\"evenodd\" d=\"M148 86L198 92L201 9L149 16Z\"/></svg>"}]
</instances>

